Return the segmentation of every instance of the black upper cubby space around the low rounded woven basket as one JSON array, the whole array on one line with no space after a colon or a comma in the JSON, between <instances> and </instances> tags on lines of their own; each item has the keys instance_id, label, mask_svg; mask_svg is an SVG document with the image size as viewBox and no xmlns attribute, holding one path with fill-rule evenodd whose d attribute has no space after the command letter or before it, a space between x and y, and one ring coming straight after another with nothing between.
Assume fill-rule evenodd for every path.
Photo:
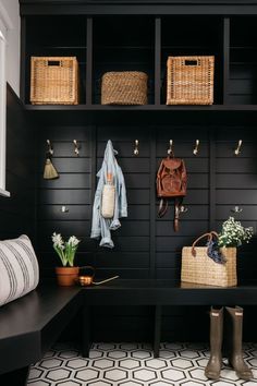
<instances>
[{"instance_id":1,"label":"black upper cubby space around the low rounded woven basket","mask_svg":"<svg viewBox=\"0 0 257 386\"><path fill-rule=\"evenodd\" d=\"M101 77L109 71L148 75L148 105L154 104L155 19L102 16L93 22L93 104L101 100Z\"/></svg>"}]
</instances>

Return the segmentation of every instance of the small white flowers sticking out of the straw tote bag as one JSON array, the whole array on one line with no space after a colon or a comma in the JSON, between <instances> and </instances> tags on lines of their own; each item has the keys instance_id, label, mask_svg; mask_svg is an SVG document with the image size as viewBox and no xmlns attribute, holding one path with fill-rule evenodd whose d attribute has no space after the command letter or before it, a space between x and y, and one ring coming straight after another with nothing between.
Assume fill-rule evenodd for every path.
<instances>
[{"instance_id":1,"label":"small white flowers sticking out of the straw tote bag","mask_svg":"<svg viewBox=\"0 0 257 386\"><path fill-rule=\"evenodd\" d=\"M254 228L244 228L234 217L229 217L222 224L222 230L219 233L219 246L240 246L244 242L248 243L254 236Z\"/></svg>"}]
</instances>

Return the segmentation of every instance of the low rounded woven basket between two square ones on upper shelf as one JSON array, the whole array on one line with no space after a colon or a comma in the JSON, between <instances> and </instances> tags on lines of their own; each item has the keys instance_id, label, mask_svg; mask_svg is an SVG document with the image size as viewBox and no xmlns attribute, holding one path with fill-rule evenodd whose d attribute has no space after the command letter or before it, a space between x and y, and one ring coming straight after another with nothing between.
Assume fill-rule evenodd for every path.
<instances>
[{"instance_id":1,"label":"low rounded woven basket between two square ones on upper shelf","mask_svg":"<svg viewBox=\"0 0 257 386\"><path fill-rule=\"evenodd\" d=\"M101 80L102 105L146 105L147 74L138 71L107 72Z\"/></svg>"}]
</instances>

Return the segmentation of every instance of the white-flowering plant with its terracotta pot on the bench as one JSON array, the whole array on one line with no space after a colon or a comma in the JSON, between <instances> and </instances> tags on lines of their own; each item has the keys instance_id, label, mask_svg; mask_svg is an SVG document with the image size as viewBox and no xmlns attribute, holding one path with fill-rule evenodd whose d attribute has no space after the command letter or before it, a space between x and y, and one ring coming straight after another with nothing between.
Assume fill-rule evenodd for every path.
<instances>
[{"instance_id":1,"label":"white-flowering plant with its terracotta pot on the bench","mask_svg":"<svg viewBox=\"0 0 257 386\"><path fill-rule=\"evenodd\" d=\"M52 234L53 249L60 257L61 267L56 267L57 280L60 286L73 286L78 277L78 267L74 266L75 253L81 240L71 236L68 241L60 233Z\"/></svg>"}]
</instances>

